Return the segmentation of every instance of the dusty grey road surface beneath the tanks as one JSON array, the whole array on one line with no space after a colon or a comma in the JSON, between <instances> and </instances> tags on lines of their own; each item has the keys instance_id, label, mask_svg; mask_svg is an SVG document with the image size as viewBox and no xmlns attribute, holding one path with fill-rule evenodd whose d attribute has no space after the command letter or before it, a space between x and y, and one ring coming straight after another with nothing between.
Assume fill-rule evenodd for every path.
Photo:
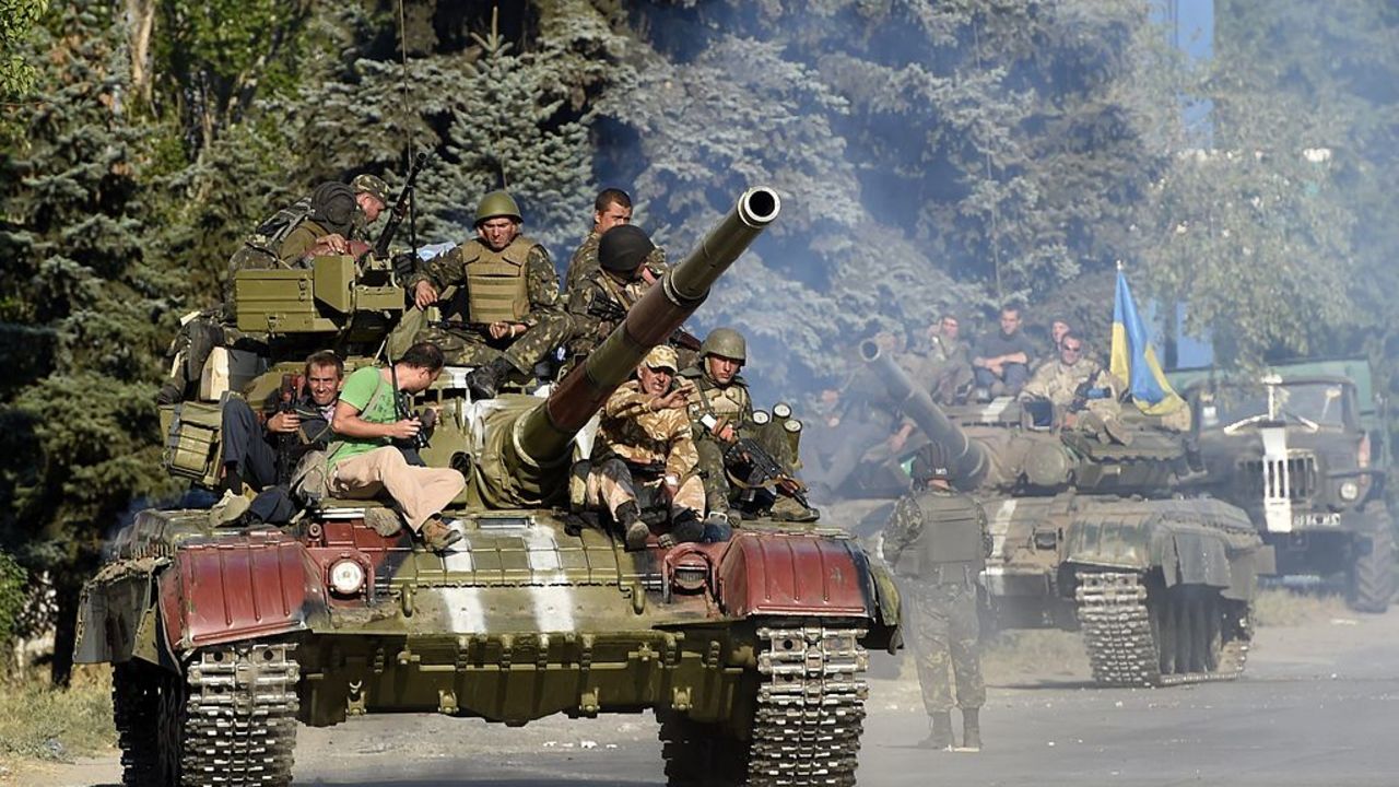
<instances>
[{"instance_id":1,"label":"dusty grey road surface beneath the tanks","mask_svg":"<svg viewBox=\"0 0 1399 787\"><path fill-rule=\"evenodd\" d=\"M860 756L870 786L1391 786L1399 781L1399 611L1259 632L1245 679L1193 688L1090 689L1069 634L1039 640L1028 678L1002 667L981 755L925 752L916 685L874 681ZM1048 641L1048 647L1044 643ZM1069 655L1063 655L1066 651ZM1017 675L1018 672L1018 675ZM334 787L663 784L649 716L523 730L382 717L302 730L297 783ZM108 786L115 756L24 783Z\"/></svg>"}]
</instances>

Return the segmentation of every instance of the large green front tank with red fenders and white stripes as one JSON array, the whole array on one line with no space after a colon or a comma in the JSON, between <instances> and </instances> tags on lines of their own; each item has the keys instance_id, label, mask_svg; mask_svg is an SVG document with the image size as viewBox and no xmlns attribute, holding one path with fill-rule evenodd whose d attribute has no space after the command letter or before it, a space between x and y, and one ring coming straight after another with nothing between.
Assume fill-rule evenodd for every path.
<instances>
[{"instance_id":1,"label":"large green front tank with red fenders and white stripes","mask_svg":"<svg viewBox=\"0 0 1399 787\"><path fill-rule=\"evenodd\" d=\"M253 532L140 513L84 588L76 654L113 665L126 784L287 784L298 723L645 710L670 784L853 784L867 648L897 641L883 567L839 531L772 521L627 552L571 506L579 433L778 211L746 192L546 399L471 402L464 370L425 392L422 457L469 478L445 553L379 536L362 501ZM392 276L327 265L239 274L239 326L273 353L249 396L292 351L376 346L403 308Z\"/></svg>"}]
</instances>

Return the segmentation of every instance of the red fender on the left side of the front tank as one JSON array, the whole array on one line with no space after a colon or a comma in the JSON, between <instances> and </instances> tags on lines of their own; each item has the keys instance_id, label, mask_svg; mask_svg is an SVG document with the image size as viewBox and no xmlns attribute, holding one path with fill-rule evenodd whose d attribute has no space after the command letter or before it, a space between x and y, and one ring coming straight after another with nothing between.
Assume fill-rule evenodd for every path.
<instances>
[{"instance_id":1,"label":"red fender on the left side of the front tank","mask_svg":"<svg viewBox=\"0 0 1399 787\"><path fill-rule=\"evenodd\" d=\"M327 616L319 566L281 534L185 546L159 577L159 605L176 653L299 632Z\"/></svg>"}]
</instances>

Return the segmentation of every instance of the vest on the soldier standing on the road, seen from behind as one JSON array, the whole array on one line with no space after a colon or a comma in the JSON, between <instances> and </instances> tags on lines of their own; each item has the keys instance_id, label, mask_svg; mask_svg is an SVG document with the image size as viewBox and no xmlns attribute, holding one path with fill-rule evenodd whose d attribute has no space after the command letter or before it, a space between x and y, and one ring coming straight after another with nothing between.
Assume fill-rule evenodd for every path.
<instances>
[{"instance_id":1,"label":"vest on the soldier standing on the road, seen from behind","mask_svg":"<svg viewBox=\"0 0 1399 787\"><path fill-rule=\"evenodd\" d=\"M930 583L971 584L986 567L981 506L967 494L923 492L915 499L923 529L894 570Z\"/></svg>"}]
</instances>

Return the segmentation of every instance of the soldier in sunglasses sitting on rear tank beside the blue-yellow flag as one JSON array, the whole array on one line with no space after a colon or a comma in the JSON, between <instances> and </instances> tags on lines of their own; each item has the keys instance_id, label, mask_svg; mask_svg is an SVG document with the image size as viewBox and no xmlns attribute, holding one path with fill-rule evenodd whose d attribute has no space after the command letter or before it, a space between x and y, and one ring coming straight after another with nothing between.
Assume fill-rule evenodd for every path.
<instances>
[{"instance_id":1,"label":"soldier in sunglasses sitting on rear tank beside the blue-yellow flag","mask_svg":"<svg viewBox=\"0 0 1399 787\"><path fill-rule=\"evenodd\" d=\"M1084 357L1083 339L1072 330L1059 339L1059 357L1039 367L1020 392L1021 402L1048 402L1066 429L1090 431L1102 443L1130 444L1119 420L1122 385L1098 361Z\"/></svg>"}]
</instances>

